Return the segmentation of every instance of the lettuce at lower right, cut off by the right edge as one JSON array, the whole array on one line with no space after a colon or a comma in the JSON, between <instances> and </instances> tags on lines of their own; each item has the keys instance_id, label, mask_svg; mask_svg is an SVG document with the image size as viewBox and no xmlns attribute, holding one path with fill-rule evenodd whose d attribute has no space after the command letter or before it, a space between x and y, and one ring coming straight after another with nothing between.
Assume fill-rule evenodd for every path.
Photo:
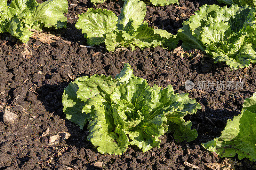
<instances>
[{"instance_id":1,"label":"lettuce at lower right, cut off by the right edge","mask_svg":"<svg viewBox=\"0 0 256 170\"><path fill-rule=\"evenodd\" d=\"M256 161L256 92L244 100L241 115L228 120L220 137L202 144L220 157L248 158Z\"/></svg>"}]
</instances>

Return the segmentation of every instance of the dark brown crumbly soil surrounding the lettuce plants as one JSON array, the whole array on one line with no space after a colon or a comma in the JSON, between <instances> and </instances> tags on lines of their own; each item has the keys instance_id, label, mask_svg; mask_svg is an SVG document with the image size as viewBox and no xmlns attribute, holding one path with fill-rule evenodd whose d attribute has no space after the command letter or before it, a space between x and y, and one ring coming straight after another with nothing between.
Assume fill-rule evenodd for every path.
<instances>
[{"instance_id":1,"label":"dark brown crumbly soil surrounding the lettuce plants","mask_svg":"<svg viewBox=\"0 0 256 170\"><path fill-rule=\"evenodd\" d=\"M69 7L67 16L72 19L68 19L67 29L45 30L61 34L64 39L72 41L71 45L62 41L47 45L31 39L28 46L32 55L24 58L21 54L24 45L17 40L6 41L9 35L0 34L0 110L9 106L9 111L18 115L13 125L5 125L0 120L0 169L66 169L68 166L84 170L97 168L94 163L99 161L103 162L102 169L192 169L185 166L184 161L207 169L208 163L221 162L222 159L204 150L201 143L220 136L227 120L241 113L244 99L256 91L256 65L250 66L247 71L230 71L223 63L215 64L197 50L180 57L159 47L115 53L100 48L81 48L80 44L85 43L84 35L75 28L76 16L93 7L93 4L87 0L79 1L69 0L69 4L78 5ZM217 2L180 1L179 7L149 6L145 20L150 26L176 34L182 21L204 4ZM122 5L122 1L107 1L98 7L119 14ZM188 17L180 18L181 13ZM95 54L98 51L99 54ZM160 149L153 148L144 153L138 148L128 148L119 156L101 155L86 140L88 130L80 130L65 119L61 98L64 88L71 81L68 74L73 78L93 74L115 76L127 62L131 64L134 74L145 78L149 85L166 87L171 84L176 92L189 92L190 97L202 105L196 115L186 117L186 120L193 122L192 128L198 131L195 141L176 143L172 134L166 134L162 137ZM186 80L195 83L227 82L240 81L239 78L244 82L240 90L217 91L207 89L207 85L202 91L185 89ZM49 135L41 138L47 128L50 129ZM71 136L62 144L49 146L49 136L58 132L68 132ZM61 148L63 152L59 152ZM248 159L239 161L243 166L236 166L237 169L256 169L256 164Z\"/></svg>"}]
</instances>

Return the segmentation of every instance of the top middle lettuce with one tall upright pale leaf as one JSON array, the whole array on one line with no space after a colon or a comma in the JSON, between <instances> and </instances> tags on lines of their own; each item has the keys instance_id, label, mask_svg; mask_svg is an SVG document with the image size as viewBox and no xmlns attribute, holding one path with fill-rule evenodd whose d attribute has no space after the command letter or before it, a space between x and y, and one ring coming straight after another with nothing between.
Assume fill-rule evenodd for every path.
<instances>
[{"instance_id":1,"label":"top middle lettuce with one tall upright pale leaf","mask_svg":"<svg viewBox=\"0 0 256 170\"><path fill-rule=\"evenodd\" d=\"M88 45L105 43L108 51L115 51L116 47L134 50L135 46L175 48L176 35L143 23L146 10L146 4L140 0L126 0L118 18L112 11L89 8L86 13L79 14L76 28L85 33Z\"/></svg>"}]
</instances>

